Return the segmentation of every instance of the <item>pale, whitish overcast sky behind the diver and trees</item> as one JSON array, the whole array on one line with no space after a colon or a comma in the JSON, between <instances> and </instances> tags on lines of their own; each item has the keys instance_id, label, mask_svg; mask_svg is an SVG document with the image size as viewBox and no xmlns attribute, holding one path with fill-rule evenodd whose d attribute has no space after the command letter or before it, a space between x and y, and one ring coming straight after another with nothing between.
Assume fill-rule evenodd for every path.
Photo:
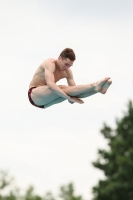
<instances>
[{"instance_id":1,"label":"pale, whitish overcast sky behind the diver and trees","mask_svg":"<svg viewBox=\"0 0 133 200\"><path fill-rule=\"evenodd\" d=\"M91 162L107 148L103 122L115 126L133 88L133 2L103 0L0 1L0 168L40 194L72 181L90 199L103 174ZM30 105L34 71L73 48L77 84L111 76L106 95L84 105L63 102L46 110ZM65 80L60 81L66 84Z\"/></svg>"}]
</instances>

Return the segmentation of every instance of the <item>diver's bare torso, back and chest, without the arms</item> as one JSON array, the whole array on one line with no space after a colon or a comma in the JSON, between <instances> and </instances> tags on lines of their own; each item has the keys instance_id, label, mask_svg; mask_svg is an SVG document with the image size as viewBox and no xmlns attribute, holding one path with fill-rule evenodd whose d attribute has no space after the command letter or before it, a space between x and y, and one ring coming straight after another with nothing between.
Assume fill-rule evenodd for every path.
<instances>
[{"instance_id":1,"label":"diver's bare torso, back and chest, without the arms","mask_svg":"<svg viewBox=\"0 0 133 200\"><path fill-rule=\"evenodd\" d=\"M46 80L45 80L45 67L49 64L52 64L55 66L55 71L54 71L55 83L59 81L60 79L67 77L67 71L59 70L55 64L55 59L50 58L43 61L42 64L37 68L30 82L29 88L47 85Z\"/></svg>"}]
</instances>

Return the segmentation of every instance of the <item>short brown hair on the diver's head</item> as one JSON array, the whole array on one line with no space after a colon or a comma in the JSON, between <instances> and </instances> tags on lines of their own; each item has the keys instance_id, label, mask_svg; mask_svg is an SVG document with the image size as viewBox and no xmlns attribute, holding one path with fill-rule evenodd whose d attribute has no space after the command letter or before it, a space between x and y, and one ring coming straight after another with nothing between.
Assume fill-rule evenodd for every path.
<instances>
[{"instance_id":1,"label":"short brown hair on the diver's head","mask_svg":"<svg viewBox=\"0 0 133 200\"><path fill-rule=\"evenodd\" d=\"M60 56L62 59L69 58L71 61L76 59L75 53L70 48L65 48L61 53Z\"/></svg>"}]
</instances>

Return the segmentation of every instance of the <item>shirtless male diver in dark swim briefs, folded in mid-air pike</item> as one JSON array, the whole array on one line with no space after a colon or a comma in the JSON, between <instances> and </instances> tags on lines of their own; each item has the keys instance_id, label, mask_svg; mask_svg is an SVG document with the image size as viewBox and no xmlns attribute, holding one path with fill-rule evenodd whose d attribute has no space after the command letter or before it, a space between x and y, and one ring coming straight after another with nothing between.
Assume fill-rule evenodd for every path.
<instances>
[{"instance_id":1,"label":"shirtless male diver in dark swim briefs, folded in mid-air pike","mask_svg":"<svg viewBox=\"0 0 133 200\"><path fill-rule=\"evenodd\" d=\"M71 66L76 59L72 49L66 48L58 59L49 58L42 62L36 70L28 91L29 101L39 108L47 108L68 100L69 103L84 103L82 98L96 93L105 94L112 81L106 77L98 82L85 85L76 85ZM68 86L56 83L66 78Z\"/></svg>"}]
</instances>

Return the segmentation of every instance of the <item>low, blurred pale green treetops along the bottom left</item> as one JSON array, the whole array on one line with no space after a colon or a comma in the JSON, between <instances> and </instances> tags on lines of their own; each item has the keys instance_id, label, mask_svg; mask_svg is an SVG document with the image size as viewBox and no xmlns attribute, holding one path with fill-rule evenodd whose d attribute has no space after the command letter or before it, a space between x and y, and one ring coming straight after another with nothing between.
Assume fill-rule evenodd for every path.
<instances>
[{"instance_id":1,"label":"low, blurred pale green treetops along the bottom left","mask_svg":"<svg viewBox=\"0 0 133 200\"><path fill-rule=\"evenodd\" d=\"M60 187L59 198L55 198L51 192L47 192L43 197L36 195L32 185L27 188L24 195L20 195L20 189L16 186L3 194L3 190L12 186L13 180L7 172L0 171L0 200L82 200L81 196L74 194L72 183Z\"/></svg>"}]
</instances>

